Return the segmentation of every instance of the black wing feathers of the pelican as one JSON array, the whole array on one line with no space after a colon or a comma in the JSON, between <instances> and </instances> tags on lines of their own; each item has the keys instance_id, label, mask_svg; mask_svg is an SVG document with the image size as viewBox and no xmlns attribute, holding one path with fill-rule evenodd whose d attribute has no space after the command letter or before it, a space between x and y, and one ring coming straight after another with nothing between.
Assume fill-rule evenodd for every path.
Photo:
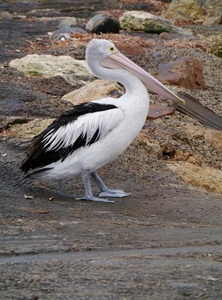
<instances>
[{"instance_id":1,"label":"black wing feathers of the pelican","mask_svg":"<svg viewBox=\"0 0 222 300\"><path fill-rule=\"evenodd\" d=\"M75 150L86 145L91 145L99 139L99 128L95 134L86 144L86 135L81 134L75 141L75 143L68 147L56 147L54 150L48 150L44 148L44 138L52 130L55 133L60 127L66 126L69 123L73 123L78 119L79 116L88 113L96 113L99 111L105 111L109 109L117 108L112 104L99 104L93 102L85 102L76 105L73 109L68 110L56 119L51 125L49 125L39 135L35 136L31 142L31 147L28 151L27 158L22 162L21 170L27 173L29 170L38 168L44 168L47 165L56 162L58 160L64 161L66 157L72 154ZM47 170L48 168L44 168ZM41 171L41 170L39 170Z\"/></svg>"}]
</instances>

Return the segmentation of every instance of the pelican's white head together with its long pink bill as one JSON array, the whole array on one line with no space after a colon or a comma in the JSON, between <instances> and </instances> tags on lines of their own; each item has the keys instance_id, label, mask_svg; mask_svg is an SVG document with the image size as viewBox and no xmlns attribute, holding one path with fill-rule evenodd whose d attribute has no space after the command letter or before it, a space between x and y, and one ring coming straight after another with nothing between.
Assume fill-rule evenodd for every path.
<instances>
[{"instance_id":1,"label":"pelican's white head together with its long pink bill","mask_svg":"<svg viewBox=\"0 0 222 300\"><path fill-rule=\"evenodd\" d=\"M93 72L95 72L96 67L127 70L139 78L143 84L153 92L167 99L181 101L183 104L185 104L183 99L170 91L160 81L140 68L125 55L121 54L115 45L108 40L91 40L86 49L86 60Z\"/></svg>"}]
</instances>

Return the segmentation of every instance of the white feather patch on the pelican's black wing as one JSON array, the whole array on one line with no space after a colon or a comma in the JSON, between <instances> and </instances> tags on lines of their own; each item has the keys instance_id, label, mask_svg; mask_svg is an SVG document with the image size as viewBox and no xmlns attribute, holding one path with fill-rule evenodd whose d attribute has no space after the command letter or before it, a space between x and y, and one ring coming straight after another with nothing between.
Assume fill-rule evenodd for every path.
<instances>
[{"instance_id":1,"label":"white feather patch on the pelican's black wing","mask_svg":"<svg viewBox=\"0 0 222 300\"><path fill-rule=\"evenodd\" d=\"M86 144L99 130L99 140L116 128L124 118L123 111L113 108L81 115L77 120L61 126L56 132L51 130L43 139L46 151L72 146L79 136L86 136Z\"/></svg>"}]
</instances>

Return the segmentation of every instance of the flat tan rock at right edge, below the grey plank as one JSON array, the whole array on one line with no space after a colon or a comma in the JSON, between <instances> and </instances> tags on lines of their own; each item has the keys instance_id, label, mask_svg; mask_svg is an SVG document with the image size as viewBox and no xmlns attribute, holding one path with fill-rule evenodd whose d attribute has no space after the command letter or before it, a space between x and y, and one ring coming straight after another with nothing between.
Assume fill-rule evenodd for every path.
<instances>
[{"instance_id":1,"label":"flat tan rock at right edge, below the grey plank","mask_svg":"<svg viewBox=\"0 0 222 300\"><path fill-rule=\"evenodd\" d=\"M222 170L189 162L168 162L167 166L189 184L222 194Z\"/></svg>"}]
</instances>

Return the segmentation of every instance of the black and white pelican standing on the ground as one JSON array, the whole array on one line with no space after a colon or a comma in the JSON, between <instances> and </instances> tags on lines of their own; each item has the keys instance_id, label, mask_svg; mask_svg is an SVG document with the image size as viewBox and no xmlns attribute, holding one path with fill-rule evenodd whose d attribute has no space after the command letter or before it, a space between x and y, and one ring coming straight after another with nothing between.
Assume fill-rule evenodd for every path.
<instances>
[{"instance_id":1,"label":"black and white pelican standing on the ground","mask_svg":"<svg viewBox=\"0 0 222 300\"><path fill-rule=\"evenodd\" d=\"M150 102L147 88L171 100L184 100L108 40L91 40L86 61L100 79L124 85L125 94L118 99L108 97L78 104L62 114L34 137L21 169L26 176L42 180L82 175L85 194L78 199L113 202L106 198L130 194L108 189L97 170L118 157L142 129ZM101 198L93 195L90 176L98 185Z\"/></svg>"}]
</instances>

